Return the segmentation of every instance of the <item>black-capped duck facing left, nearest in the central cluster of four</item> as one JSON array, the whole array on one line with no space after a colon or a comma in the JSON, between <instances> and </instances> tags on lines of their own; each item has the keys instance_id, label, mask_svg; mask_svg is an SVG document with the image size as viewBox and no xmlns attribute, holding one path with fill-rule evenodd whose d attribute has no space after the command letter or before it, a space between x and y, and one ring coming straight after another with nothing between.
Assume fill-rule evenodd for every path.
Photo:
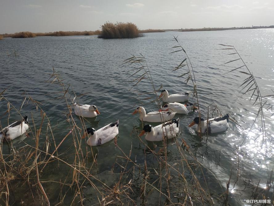
<instances>
[{"instance_id":1,"label":"black-capped duck facing left, nearest in the central cluster of four","mask_svg":"<svg viewBox=\"0 0 274 206\"><path fill-rule=\"evenodd\" d=\"M171 139L175 137L178 132L179 118L177 120L173 119L165 124L157 125L156 127L147 124L143 127L143 131L139 134L139 137L147 133L145 135L147 141L163 141L165 138Z\"/></svg>"}]
</instances>

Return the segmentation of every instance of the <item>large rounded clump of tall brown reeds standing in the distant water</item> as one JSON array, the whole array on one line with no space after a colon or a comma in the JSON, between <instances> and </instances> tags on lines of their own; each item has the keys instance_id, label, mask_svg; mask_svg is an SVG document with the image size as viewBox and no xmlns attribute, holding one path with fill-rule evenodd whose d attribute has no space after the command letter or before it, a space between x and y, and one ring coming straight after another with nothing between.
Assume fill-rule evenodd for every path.
<instances>
[{"instance_id":1,"label":"large rounded clump of tall brown reeds standing in the distant water","mask_svg":"<svg viewBox=\"0 0 274 206\"><path fill-rule=\"evenodd\" d=\"M120 39L120 38L135 38L142 36L139 33L138 27L134 23L111 23L106 22L102 25L102 32L98 38L103 39Z\"/></svg>"}]
</instances>

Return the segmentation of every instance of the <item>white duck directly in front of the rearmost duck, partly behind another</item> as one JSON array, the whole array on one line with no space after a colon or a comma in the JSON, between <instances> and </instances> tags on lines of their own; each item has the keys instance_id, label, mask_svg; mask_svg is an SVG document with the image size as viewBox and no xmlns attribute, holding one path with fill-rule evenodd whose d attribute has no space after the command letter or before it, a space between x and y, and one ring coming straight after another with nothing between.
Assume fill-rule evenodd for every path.
<instances>
[{"instance_id":1,"label":"white duck directly in front of the rearmost duck, partly behind another","mask_svg":"<svg viewBox=\"0 0 274 206\"><path fill-rule=\"evenodd\" d=\"M164 104L159 111L175 111L178 114L188 114L194 109L198 109L198 107L195 107L193 103L181 104L174 102Z\"/></svg>"}]
</instances>

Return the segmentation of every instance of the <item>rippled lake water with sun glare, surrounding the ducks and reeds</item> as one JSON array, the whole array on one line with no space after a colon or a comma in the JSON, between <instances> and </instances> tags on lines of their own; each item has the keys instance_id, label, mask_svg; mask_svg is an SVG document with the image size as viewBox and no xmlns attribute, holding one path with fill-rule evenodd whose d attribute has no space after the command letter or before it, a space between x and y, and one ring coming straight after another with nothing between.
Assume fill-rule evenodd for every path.
<instances>
[{"instance_id":1,"label":"rippled lake water with sun glare, surrounding the ducks and reeds","mask_svg":"<svg viewBox=\"0 0 274 206\"><path fill-rule=\"evenodd\" d=\"M262 95L270 95L273 94L274 89L274 29L148 33L144 37L135 39L113 40L97 39L96 36L5 38L0 41L0 91L8 87L4 96L17 109L24 100L25 95L22 95L24 91L42 103L41 107L54 127L53 134L56 144L59 144L70 131L70 127L66 121L68 113L66 104L57 99L62 96L59 93L62 91L61 87L45 82L54 66L55 70L60 72L64 83L71 84L77 95L88 93L79 97L79 103L94 104L100 111L101 114L96 119L89 120L87 126L91 125L99 129L119 119L117 144L125 153L129 153L132 147L131 158L137 164L144 164L145 147L140 144L134 132L134 127L141 129L141 122L137 115L133 116L131 113L139 105L139 99L149 97L149 95L138 97L137 92L146 93L152 91L152 88L148 81L142 80L140 85L129 91L134 84L131 82L134 78L127 78L134 71L130 71L121 64L123 60L131 57L131 54L138 56L141 53L146 57L156 87L162 84L163 89L168 90L170 94L193 90L190 82L187 85L184 84L185 77L177 78L186 72L186 67L171 72L173 67L185 58L183 53L170 54L174 51L170 48L176 43L171 41L173 35L178 36L179 42L188 53L193 65L203 117L207 117L207 106L214 102L223 114L231 112L243 127L240 128L230 123L226 132L200 140L193 128L187 127L198 115L196 111L188 115L175 116L180 118L181 134L178 139L183 138L197 160L207 168L204 172L206 178L207 174L211 176L207 184L210 191L215 191L218 187L217 180L225 190L232 168L229 201L232 205L244 205L244 199L252 199L250 195L253 184L256 187L260 180L259 188L266 187L268 175L274 166L273 144L262 136L257 137L261 126L260 121L249 131L258 107L252 106L253 102L249 101L250 95L241 96L242 93L239 93L241 88L238 87L247 76L237 70L225 74L241 66L242 63L235 61L220 66L236 59L237 56L226 55L233 52L219 50L223 46L218 44L234 45L253 74L262 78L257 79ZM18 51L18 57L12 55L14 49ZM142 100L146 111L155 111L157 106L154 103L148 104L149 102L151 99ZM269 103L273 103L273 100ZM6 110L7 103L2 100L0 102L2 126L7 125L7 115L2 116ZM264 113L267 137L271 139L274 138L274 116L271 117L271 111L265 110ZM22 107L22 114L29 117L32 114L34 119L40 118L40 112L37 112L31 103ZM15 121L18 118L20 117L12 111L9 121ZM80 122L79 118L75 119L78 123ZM33 126L31 122L32 120L30 120L30 126ZM144 136L141 139L145 141ZM27 137L24 141L34 145L31 137ZM45 133L41 134L40 145L42 146L43 141L45 141ZM242 147L237 151L236 148L242 142ZM20 148L24 144L18 141L14 143L14 146ZM162 146L161 143L157 145ZM85 144L82 145L82 148L84 147ZM52 148L50 152L54 150ZM117 149L113 141L95 150L98 155L98 171L94 172L94 175L98 175L102 181L111 185L112 179L109 172L117 156L121 155L121 151ZM69 136L59 148L58 153L73 153L73 151L73 140ZM169 142L168 152L170 162L173 163L174 159L179 158L176 145L172 141ZM7 144L3 144L3 153L8 153ZM69 156L66 158L71 162L74 160L74 157L72 160ZM149 163L155 163L153 158L150 158ZM69 168L63 167L64 173L70 171ZM237 178L237 168L239 169L239 180L232 189ZM60 169L56 166L56 170ZM43 173L43 179L50 179L54 175L62 178L60 172L52 171L50 168L47 171ZM215 175L215 180L209 173ZM63 174L63 178L66 176L67 174ZM244 182L250 184L246 189L244 189ZM51 187L53 189L53 186L49 185L46 192L51 194L50 201L55 203L59 192L54 194L50 191ZM88 191L86 192L89 194ZM133 199L137 204L141 204L138 198ZM154 205L154 203L153 198L148 197L146 204Z\"/></svg>"}]
</instances>

